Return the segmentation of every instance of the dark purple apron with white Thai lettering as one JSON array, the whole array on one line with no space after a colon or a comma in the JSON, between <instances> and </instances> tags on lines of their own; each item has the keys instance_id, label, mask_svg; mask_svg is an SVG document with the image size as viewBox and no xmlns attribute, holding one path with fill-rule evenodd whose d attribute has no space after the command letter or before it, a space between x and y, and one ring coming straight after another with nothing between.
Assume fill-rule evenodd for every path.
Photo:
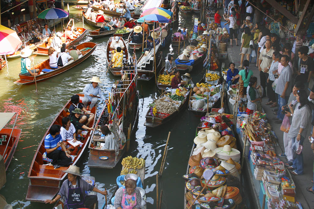
<instances>
[{"instance_id":1,"label":"dark purple apron with white Thai lettering","mask_svg":"<svg viewBox=\"0 0 314 209\"><path fill-rule=\"evenodd\" d=\"M69 182L69 190L68 190L68 200L67 205L68 209L77 209L84 207L84 193L80 187L80 181L77 181L77 187L72 189L70 187L71 182Z\"/></svg>"}]
</instances>

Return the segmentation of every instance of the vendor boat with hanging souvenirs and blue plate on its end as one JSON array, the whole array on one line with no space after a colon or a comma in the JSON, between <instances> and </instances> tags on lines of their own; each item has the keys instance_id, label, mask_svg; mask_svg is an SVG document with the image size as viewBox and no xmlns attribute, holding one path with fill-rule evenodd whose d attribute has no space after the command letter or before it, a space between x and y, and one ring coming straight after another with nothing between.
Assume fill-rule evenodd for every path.
<instances>
[{"instance_id":1,"label":"vendor boat with hanging souvenirs and blue plate on its end","mask_svg":"<svg viewBox=\"0 0 314 209\"><path fill-rule=\"evenodd\" d=\"M136 90L136 60L132 61L128 64L124 63L122 80L117 81L111 89L111 107L110 105L106 106L98 118L88 146L87 165L89 167L114 168L127 151L125 136L129 140L131 135L135 133L138 121L138 92ZM104 138L101 137L100 127L105 124L110 124L109 127L118 145L116 149L103 149L105 142Z\"/></svg>"}]
</instances>

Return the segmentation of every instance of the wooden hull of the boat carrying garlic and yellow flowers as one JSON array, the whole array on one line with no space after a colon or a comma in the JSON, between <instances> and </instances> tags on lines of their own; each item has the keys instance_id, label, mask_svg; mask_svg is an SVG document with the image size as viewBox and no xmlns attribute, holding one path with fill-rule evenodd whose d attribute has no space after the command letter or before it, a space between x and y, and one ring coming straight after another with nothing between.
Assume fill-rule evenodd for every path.
<instances>
[{"instance_id":1,"label":"wooden hull of the boat carrying garlic and yellow flowers","mask_svg":"<svg viewBox=\"0 0 314 209\"><path fill-rule=\"evenodd\" d=\"M190 89L189 91L192 91L192 90ZM165 94L167 94L166 91L164 93L162 93L157 99L163 97ZM189 100L189 94L190 93L188 93L187 96L185 97L184 101L181 102L181 105L179 106L178 110L173 112L172 114L160 113L160 115L158 115L159 113L157 112L157 116L152 116L151 112L150 112L150 108L149 108L149 110L147 111L147 113L145 115L146 120L145 120L144 126L155 128L155 127L158 127L162 124L169 122L173 118L176 118L176 116L182 110L184 110L185 107L187 106L187 102ZM156 100L154 102L156 102ZM152 103L154 103L154 102L152 102Z\"/></svg>"}]
</instances>

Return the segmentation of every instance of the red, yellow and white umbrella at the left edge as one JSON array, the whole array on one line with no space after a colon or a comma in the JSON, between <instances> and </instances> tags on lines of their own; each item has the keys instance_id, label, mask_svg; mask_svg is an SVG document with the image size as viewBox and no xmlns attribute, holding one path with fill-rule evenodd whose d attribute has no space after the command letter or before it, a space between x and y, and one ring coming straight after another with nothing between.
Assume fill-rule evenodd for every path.
<instances>
[{"instance_id":1,"label":"red, yellow and white umbrella at the left edge","mask_svg":"<svg viewBox=\"0 0 314 209\"><path fill-rule=\"evenodd\" d=\"M0 25L0 55L14 54L22 45L15 30Z\"/></svg>"}]
</instances>

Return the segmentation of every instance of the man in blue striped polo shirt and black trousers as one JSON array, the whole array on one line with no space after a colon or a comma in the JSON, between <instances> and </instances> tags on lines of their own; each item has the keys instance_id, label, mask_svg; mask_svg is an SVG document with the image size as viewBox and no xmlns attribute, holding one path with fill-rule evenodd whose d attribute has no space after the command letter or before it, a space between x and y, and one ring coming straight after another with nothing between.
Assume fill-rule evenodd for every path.
<instances>
[{"instance_id":1,"label":"man in blue striped polo shirt and black trousers","mask_svg":"<svg viewBox=\"0 0 314 209\"><path fill-rule=\"evenodd\" d=\"M47 158L52 159L50 163L54 168L66 167L72 163L72 157L67 153L67 149L62 141L60 125L52 125L49 134L45 137L45 149Z\"/></svg>"}]
</instances>

